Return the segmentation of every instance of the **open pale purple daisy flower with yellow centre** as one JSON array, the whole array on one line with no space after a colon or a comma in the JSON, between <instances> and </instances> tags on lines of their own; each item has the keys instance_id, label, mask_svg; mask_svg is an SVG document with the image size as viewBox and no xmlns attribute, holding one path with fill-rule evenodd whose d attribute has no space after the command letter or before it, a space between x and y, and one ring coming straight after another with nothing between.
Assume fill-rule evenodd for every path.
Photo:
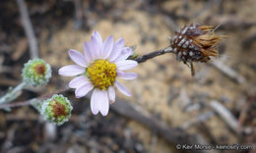
<instances>
[{"instance_id":1,"label":"open pale purple daisy flower with yellow centre","mask_svg":"<svg viewBox=\"0 0 256 153\"><path fill-rule=\"evenodd\" d=\"M130 47L124 47L124 39L116 42L112 36L107 37L104 42L97 31L93 32L90 42L85 42L84 55L76 50L68 51L70 58L77 65L69 65L59 69L59 75L75 77L69 82L69 87L76 88L77 98L81 98L94 90L91 97L91 109L94 115L100 112L106 116L109 103L115 101L114 86L127 96L132 93L116 80L116 77L134 79L135 73L124 73L123 71L133 69L138 63L127 60L133 54Z\"/></svg>"}]
</instances>

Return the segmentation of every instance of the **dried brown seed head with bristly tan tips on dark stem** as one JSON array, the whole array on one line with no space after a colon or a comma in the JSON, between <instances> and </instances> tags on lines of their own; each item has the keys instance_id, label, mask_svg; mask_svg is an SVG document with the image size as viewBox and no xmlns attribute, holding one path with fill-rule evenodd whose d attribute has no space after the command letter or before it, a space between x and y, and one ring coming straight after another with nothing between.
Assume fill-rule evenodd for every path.
<instances>
[{"instance_id":1,"label":"dried brown seed head with bristly tan tips on dark stem","mask_svg":"<svg viewBox=\"0 0 256 153\"><path fill-rule=\"evenodd\" d=\"M184 26L175 32L170 40L173 53L177 61L187 62L209 62L211 57L219 55L217 44L222 36L213 32L214 26L201 26L193 24Z\"/></svg>"}]
</instances>

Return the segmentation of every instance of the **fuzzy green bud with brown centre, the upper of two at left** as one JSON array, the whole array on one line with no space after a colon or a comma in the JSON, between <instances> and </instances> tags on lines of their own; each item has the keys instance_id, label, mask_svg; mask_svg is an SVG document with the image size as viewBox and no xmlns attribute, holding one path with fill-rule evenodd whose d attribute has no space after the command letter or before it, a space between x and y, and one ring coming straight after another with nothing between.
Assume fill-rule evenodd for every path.
<instances>
[{"instance_id":1,"label":"fuzzy green bud with brown centre, the upper of two at left","mask_svg":"<svg viewBox=\"0 0 256 153\"><path fill-rule=\"evenodd\" d=\"M51 77L51 68L41 59L30 60L24 65L23 79L32 86L42 86Z\"/></svg>"}]
</instances>

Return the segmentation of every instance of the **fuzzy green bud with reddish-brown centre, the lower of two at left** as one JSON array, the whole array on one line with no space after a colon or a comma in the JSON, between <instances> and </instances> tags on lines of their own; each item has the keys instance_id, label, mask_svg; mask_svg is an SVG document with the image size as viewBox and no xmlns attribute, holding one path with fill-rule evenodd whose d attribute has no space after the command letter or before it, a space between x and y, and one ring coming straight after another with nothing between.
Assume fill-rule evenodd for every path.
<instances>
[{"instance_id":1,"label":"fuzzy green bud with reddish-brown centre, the lower of two at left","mask_svg":"<svg viewBox=\"0 0 256 153\"><path fill-rule=\"evenodd\" d=\"M61 94L54 94L51 98L42 102L40 114L46 121L60 126L69 120L72 109L68 98Z\"/></svg>"}]
</instances>

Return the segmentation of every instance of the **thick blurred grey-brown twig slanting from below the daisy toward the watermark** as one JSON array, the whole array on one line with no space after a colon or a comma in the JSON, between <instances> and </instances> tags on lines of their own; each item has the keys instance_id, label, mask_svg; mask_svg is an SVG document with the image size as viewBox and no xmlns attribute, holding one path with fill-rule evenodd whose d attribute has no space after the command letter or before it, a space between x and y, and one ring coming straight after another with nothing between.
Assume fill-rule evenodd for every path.
<instances>
[{"instance_id":1,"label":"thick blurred grey-brown twig slanting from below the daisy toward the watermark","mask_svg":"<svg viewBox=\"0 0 256 153\"><path fill-rule=\"evenodd\" d=\"M141 108L121 99L111 105L111 108L127 118L133 119L148 128L156 131L164 139L174 144L207 144L207 141L198 135L190 135L182 129L169 128L163 122L145 112ZM185 151L185 150L184 150ZM207 152L206 150L195 150L194 152Z\"/></svg>"}]
</instances>

